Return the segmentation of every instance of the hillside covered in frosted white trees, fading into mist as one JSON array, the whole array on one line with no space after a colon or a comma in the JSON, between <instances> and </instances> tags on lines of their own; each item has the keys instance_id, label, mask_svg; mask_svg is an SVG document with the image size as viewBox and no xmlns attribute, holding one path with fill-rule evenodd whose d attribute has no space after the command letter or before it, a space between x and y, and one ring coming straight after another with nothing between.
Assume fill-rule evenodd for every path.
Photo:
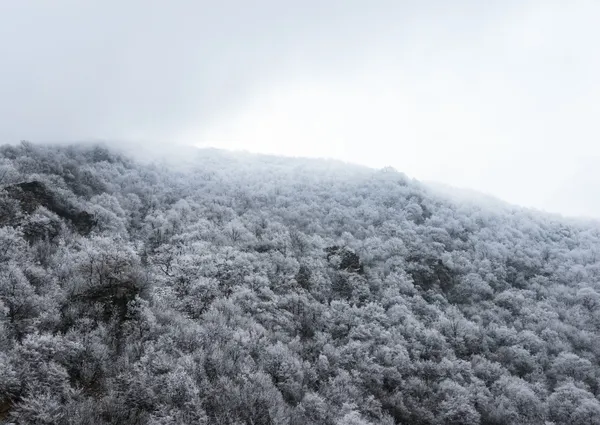
<instances>
[{"instance_id":1,"label":"hillside covered in frosted white trees, fading into mist","mask_svg":"<svg viewBox=\"0 0 600 425\"><path fill-rule=\"evenodd\" d=\"M600 424L600 225L391 170L0 147L0 423Z\"/></svg>"}]
</instances>

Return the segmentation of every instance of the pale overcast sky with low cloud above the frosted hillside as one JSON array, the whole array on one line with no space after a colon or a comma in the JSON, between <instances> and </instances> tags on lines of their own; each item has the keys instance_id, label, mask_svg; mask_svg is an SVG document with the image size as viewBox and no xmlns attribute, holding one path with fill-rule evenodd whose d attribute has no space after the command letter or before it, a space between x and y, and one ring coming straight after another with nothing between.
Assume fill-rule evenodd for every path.
<instances>
[{"instance_id":1,"label":"pale overcast sky with low cloud above the frosted hillside","mask_svg":"<svg viewBox=\"0 0 600 425\"><path fill-rule=\"evenodd\" d=\"M393 166L600 218L598 0L0 2L0 142Z\"/></svg>"}]
</instances>

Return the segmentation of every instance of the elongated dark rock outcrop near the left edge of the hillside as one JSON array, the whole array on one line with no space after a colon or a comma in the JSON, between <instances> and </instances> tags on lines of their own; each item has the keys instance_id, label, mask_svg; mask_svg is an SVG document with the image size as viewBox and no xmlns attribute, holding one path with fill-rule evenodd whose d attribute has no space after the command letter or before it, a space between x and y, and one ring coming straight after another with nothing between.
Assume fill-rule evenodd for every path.
<instances>
[{"instance_id":1,"label":"elongated dark rock outcrop near the left edge of the hillside","mask_svg":"<svg viewBox=\"0 0 600 425\"><path fill-rule=\"evenodd\" d=\"M87 211L80 211L72 205L60 200L56 194L48 189L42 182L31 181L10 185L4 188L9 197L17 200L23 212L33 213L38 207L43 206L57 216L71 223L82 235L92 231L95 220Z\"/></svg>"}]
</instances>

